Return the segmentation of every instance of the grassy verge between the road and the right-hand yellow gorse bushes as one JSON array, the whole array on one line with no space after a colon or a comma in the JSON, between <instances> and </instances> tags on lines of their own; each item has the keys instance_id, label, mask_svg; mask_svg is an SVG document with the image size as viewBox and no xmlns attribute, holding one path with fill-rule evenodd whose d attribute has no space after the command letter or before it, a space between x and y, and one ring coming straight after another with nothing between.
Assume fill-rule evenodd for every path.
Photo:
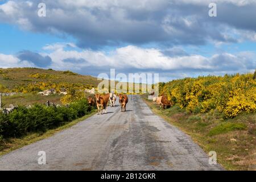
<instances>
[{"instance_id":1,"label":"grassy verge between the road and the right-hand yellow gorse bushes","mask_svg":"<svg viewBox=\"0 0 256 182\"><path fill-rule=\"evenodd\" d=\"M190 135L207 154L216 151L217 161L224 168L256 170L256 113L224 119L218 111L191 114L177 105L159 109L146 96L142 98L155 114Z\"/></svg>"}]
</instances>

